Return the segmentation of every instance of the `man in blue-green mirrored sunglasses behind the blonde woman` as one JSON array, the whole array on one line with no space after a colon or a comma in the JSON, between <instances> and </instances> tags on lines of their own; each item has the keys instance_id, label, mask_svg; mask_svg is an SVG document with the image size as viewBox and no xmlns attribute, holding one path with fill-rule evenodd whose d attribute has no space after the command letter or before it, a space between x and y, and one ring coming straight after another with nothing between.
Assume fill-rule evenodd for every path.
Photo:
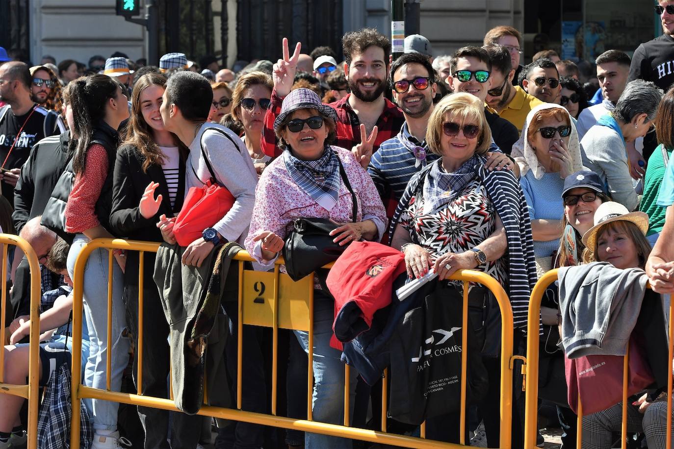
<instances>
[{"instance_id":1,"label":"man in blue-green mirrored sunglasses behind the blonde woman","mask_svg":"<svg viewBox=\"0 0 674 449\"><path fill-rule=\"evenodd\" d=\"M477 46L459 48L452 56L450 67L452 75L448 77L448 83L452 87L452 92L466 92L476 96L484 103L487 92L493 87L489 75L487 75L485 81L480 81L480 79L483 79L481 74L485 72L491 74L491 61L487 51ZM503 153L510 154L512 144L519 138L517 128L486 107L485 116L494 142ZM513 168L518 171L516 164L513 164Z\"/></svg>"}]
</instances>

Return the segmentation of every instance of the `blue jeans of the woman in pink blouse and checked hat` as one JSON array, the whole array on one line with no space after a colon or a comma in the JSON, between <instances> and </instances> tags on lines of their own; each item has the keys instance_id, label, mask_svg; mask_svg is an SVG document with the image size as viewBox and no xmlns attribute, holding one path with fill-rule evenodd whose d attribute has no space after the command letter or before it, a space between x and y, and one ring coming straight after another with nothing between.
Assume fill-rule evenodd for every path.
<instances>
[{"instance_id":1,"label":"blue jeans of the woman in pink blouse and checked hat","mask_svg":"<svg viewBox=\"0 0 674 449\"><path fill-rule=\"evenodd\" d=\"M344 364L342 353L330 347L332 322L334 321L334 300L322 291L316 290L313 302L313 399L311 410L313 420L329 424L344 423ZM305 352L309 351L309 334L295 331L297 340ZM350 401L355 399L358 372L350 370ZM351 413L353 415L353 413ZM305 448L350 449L351 440L321 434L305 434Z\"/></svg>"}]
</instances>

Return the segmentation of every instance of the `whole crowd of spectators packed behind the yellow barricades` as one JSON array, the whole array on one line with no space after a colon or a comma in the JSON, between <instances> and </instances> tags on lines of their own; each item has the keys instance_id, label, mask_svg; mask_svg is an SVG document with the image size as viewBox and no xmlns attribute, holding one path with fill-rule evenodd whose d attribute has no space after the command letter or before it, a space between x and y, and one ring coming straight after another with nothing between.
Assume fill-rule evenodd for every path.
<instances>
[{"instance_id":1,"label":"whole crowd of spectators packed behind the yellow barricades","mask_svg":"<svg viewBox=\"0 0 674 449\"><path fill-rule=\"evenodd\" d=\"M199 447L211 425L195 415L204 389L209 405L236 407L238 382L242 409L269 413L271 334L238 322L239 273L229 269L245 249L248 269L273 271L283 256L280 271L293 279L316 272L313 333L279 331L280 414L306 419L311 353L315 421L343 423L346 391L352 425L381 427L377 382L388 367L389 431L419 436L425 421L427 438L458 443L464 435L471 446L522 448L520 361L512 441L499 441L495 298L473 283L465 297L466 428L449 377L460 367L453 348L462 345L454 334L462 324L451 305L438 304L462 303L463 284L451 279L458 270L493 277L514 316L503 332L525 355L532 289L559 268L540 329L528 331L540 332L541 363L551 367L539 375L539 400L541 410L556 410L563 448L576 447L572 396L592 382L574 367L624 355L627 341L631 359L644 353L637 374L650 380L630 392L630 444L665 447L672 417L660 374L663 310L674 293L667 244L674 239L674 74L664 67L674 59L674 1L659 1L656 13L663 36L640 44L632 58L607 50L592 63L544 50L524 65L522 35L510 26L489 30L482 46L435 57L425 37L408 36L395 60L390 40L369 28L343 36L342 62L332 48L302 53L301 42L292 48L284 38L278 61L238 61L232 69L183 53L163 55L158 67L121 53L93 56L88 66L47 55L30 67L0 48L0 231L26 239L40 262L40 386L53 392L71 375L72 340L81 338L82 373L72 375L84 385L122 391L133 382L129 391L158 398L172 390L186 412L129 412L86 399L82 442L93 449ZM323 251L298 249L309 235ZM84 314L75 317L83 331L73 336L75 262L96 238L162 246L142 260L135 251L114 250L112 263L107 250L90 254ZM325 262L319 254L328 253L342 261L332 279L316 271ZM11 287L2 305L3 381L25 384L30 269L19 248L0 263ZM647 281L654 293L646 293ZM403 286L413 293L398 300ZM658 313L646 306L650 294L663 304ZM663 357L653 344L660 340ZM424 349L429 344L434 352ZM354 367L348 379L345 362ZM621 391L584 415L583 448L615 447L620 400ZM25 444L23 405L20 396L0 395L0 449ZM50 419L40 414L40 438L67 440L67 426ZM215 423L216 448L355 446L297 429Z\"/></svg>"}]
</instances>

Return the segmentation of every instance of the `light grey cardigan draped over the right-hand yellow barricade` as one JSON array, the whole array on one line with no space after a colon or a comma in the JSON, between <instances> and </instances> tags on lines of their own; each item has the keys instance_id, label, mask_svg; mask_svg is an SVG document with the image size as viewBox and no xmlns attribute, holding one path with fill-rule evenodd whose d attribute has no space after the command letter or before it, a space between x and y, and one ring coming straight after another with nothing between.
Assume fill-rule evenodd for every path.
<instances>
[{"instance_id":1,"label":"light grey cardigan draped over the right-hand yellow barricade","mask_svg":"<svg viewBox=\"0 0 674 449\"><path fill-rule=\"evenodd\" d=\"M642 269L593 262L558 273L561 345L570 359L625 355L648 277Z\"/></svg>"}]
</instances>

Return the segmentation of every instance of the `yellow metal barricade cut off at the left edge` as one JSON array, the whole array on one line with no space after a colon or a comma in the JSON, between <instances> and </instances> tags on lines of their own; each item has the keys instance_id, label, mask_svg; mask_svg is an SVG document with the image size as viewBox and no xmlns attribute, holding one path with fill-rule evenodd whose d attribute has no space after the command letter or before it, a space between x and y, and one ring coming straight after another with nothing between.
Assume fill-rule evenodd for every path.
<instances>
[{"instance_id":1,"label":"yellow metal barricade cut off at the left edge","mask_svg":"<svg viewBox=\"0 0 674 449\"><path fill-rule=\"evenodd\" d=\"M7 342L10 335L7 335L8 329L5 328L5 318L7 316L7 250L9 245L15 245L21 248L28 259L30 267L30 346L28 349L28 385L5 384L5 351L0 351L0 393L13 394L28 399L28 449L37 449L38 438L38 407L40 398L38 388L40 384L39 371L39 351L40 351L40 263L32 246L19 236L11 234L0 234L0 244L2 244L2 306L0 312L0 339Z\"/></svg>"}]
</instances>

